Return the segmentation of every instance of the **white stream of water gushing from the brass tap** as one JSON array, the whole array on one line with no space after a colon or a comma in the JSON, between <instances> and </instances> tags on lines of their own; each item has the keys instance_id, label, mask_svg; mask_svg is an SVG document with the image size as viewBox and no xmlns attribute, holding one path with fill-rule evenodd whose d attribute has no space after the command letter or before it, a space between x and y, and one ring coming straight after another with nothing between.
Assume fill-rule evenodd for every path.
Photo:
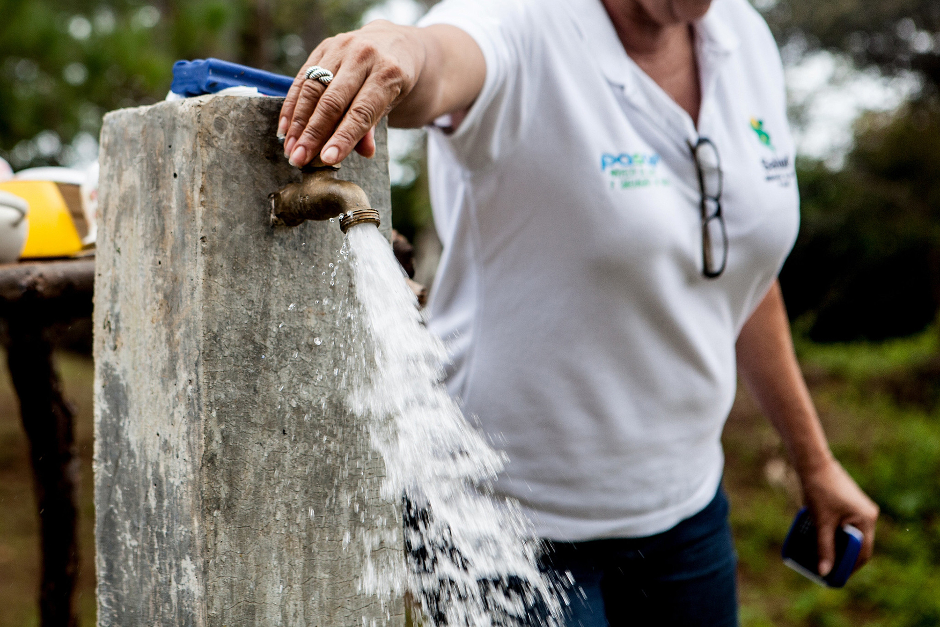
<instances>
[{"instance_id":1,"label":"white stream of water gushing from the brass tap","mask_svg":"<svg viewBox=\"0 0 940 627\"><path fill-rule=\"evenodd\" d=\"M352 410L368 419L384 458L382 495L403 502L406 564L368 559L366 591L411 591L425 624L559 625L554 582L518 506L486 494L506 462L464 419L441 384L444 344L424 327L392 248L371 224L350 228L368 367L352 373ZM366 541L377 546L375 539Z\"/></svg>"}]
</instances>

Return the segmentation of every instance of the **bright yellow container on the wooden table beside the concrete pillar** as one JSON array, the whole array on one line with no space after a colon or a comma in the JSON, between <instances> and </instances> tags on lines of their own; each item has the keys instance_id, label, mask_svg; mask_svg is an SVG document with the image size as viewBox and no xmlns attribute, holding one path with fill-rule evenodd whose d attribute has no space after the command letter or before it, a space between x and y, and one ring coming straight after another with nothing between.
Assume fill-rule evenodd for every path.
<instances>
[{"instance_id":1,"label":"bright yellow container on the wooden table beside the concrete pillar","mask_svg":"<svg viewBox=\"0 0 940 627\"><path fill-rule=\"evenodd\" d=\"M71 187L50 180L8 180L0 190L24 198L29 203L29 234L21 259L70 257L82 250L82 238L73 219L85 217L81 207L71 208L65 196L73 196ZM64 194L63 194L64 192Z\"/></svg>"}]
</instances>

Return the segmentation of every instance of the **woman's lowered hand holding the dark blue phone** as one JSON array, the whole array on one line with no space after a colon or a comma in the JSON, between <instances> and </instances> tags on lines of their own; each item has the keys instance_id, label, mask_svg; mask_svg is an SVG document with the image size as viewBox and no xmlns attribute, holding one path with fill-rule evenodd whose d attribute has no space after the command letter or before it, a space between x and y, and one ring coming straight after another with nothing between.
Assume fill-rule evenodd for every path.
<instances>
[{"instance_id":1,"label":"woman's lowered hand holding the dark blue phone","mask_svg":"<svg viewBox=\"0 0 940 627\"><path fill-rule=\"evenodd\" d=\"M830 459L819 468L804 471L800 480L803 499L816 523L820 574L824 577L835 565L836 530L842 525L854 525L865 536L855 561L855 569L861 568L874 549L878 506L836 460Z\"/></svg>"}]
</instances>

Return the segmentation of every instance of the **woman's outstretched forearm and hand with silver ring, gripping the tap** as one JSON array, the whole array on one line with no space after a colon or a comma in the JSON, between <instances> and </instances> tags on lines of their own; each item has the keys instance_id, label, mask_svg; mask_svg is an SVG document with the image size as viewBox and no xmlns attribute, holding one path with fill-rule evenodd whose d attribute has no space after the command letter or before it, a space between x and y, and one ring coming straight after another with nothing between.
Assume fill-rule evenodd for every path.
<instances>
[{"instance_id":1,"label":"woman's outstretched forearm and hand with silver ring, gripping the tap","mask_svg":"<svg viewBox=\"0 0 940 627\"><path fill-rule=\"evenodd\" d=\"M313 65L335 74L329 86L305 80ZM371 130L384 115L395 126L423 126L467 109L485 77L477 42L456 26L372 22L324 39L310 54L290 86L277 133L286 134L285 155L298 167L318 153L331 165L352 149L370 157Z\"/></svg>"}]
</instances>

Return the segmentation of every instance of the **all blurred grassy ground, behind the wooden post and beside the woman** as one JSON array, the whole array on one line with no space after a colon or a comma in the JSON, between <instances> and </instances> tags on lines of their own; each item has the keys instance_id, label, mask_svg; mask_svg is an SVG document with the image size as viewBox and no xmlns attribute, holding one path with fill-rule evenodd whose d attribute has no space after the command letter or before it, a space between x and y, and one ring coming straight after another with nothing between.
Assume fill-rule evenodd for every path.
<instances>
[{"instance_id":1,"label":"all blurred grassy ground, behind the wooden post and beside the woman","mask_svg":"<svg viewBox=\"0 0 940 627\"><path fill-rule=\"evenodd\" d=\"M797 327L798 328L798 327ZM725 430L726 485L740 557L743 627L940 625L940 332L797 352L839 460L882 508L875 556L846 588L786 568L780 545L800 504L775 431L742 391ZM0 357L3 355L0 354ZM91 361L57 356L76 407L82 460L79 607L95 622ZM0 368L0 625L39 625L39 536L28 449Z\"/></svg>"}]
</instances>

